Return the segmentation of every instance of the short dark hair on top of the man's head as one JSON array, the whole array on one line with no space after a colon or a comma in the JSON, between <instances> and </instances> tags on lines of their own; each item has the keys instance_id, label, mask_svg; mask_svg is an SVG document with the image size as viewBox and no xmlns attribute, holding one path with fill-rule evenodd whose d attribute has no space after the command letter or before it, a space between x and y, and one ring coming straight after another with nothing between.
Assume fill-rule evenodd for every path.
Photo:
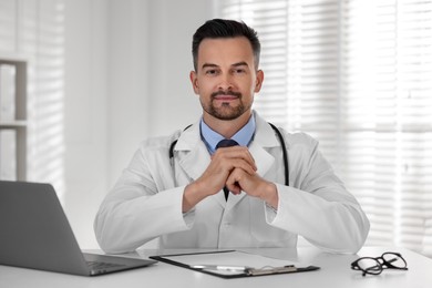
<instances>
[{"instance_id":1,"label":"short dark hair on top of the man's head","mask_svg":"<svg viewBox=\"0 0 432 288\"><path fill-rule=\"evenodd\" d=\"M226 20L226 19L213 19L206 21L202 27L199 27L193 37L192 56L194 59L195 71L197 71L197 65L198 65L199 44L204 39L236 38L236 37L246 37L249 40L254 51L255 69L258 69L261 44L259 43L257 32L250 27L248 27L247 24L245 24L245 22L237 22L234 20Z\"/></svg>"}]
</instances>

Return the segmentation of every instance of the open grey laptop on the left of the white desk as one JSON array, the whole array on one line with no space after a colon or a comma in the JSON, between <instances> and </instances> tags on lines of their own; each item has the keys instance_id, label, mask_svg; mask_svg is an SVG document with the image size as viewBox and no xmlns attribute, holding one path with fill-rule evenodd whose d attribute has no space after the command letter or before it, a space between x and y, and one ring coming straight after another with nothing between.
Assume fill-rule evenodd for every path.
<instances>
[{"instance_id":1,"label":"open grey laptop on the left of the white desk","mask_svg":"<svg viewBox=\"0 0 432 288\"><path fill-rule=\"evenodd\" d=\"M0 181L0 265L96 276L155 260L81 251L50 184Z\"/></svg>"}]
</instances>

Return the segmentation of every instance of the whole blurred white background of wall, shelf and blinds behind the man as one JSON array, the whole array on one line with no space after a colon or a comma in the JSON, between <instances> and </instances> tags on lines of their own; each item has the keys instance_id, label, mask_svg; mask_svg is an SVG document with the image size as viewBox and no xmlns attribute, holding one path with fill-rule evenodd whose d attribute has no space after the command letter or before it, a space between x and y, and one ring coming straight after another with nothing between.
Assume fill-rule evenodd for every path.
<instances>
[{"instance_id":1,"label":"whole blurred white background of wall, shelf and blinds behind the man","mask_svg":"<svg viewBox=\"0 0 432 288\"><path fill-rule=\"evenodd\" d=\"M0 177L54 185L82 248L140 142L200 116L206 20L261 40L255 109L320 147L367 245L432 256L432 0L0 0Z\"/></svg>"}]
</instances>

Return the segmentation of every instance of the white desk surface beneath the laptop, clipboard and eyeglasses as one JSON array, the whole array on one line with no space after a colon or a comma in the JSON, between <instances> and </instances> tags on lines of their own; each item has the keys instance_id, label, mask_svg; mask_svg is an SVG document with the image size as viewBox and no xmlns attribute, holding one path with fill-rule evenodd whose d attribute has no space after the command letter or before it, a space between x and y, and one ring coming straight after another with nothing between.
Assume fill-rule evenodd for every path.
<instances>
[{"instance_id":1,"label":"white desk surface beneath the laptop, clipboard and eyeglasses","mask_svg":"<svg viewBox=\"0 0 432 288\"><path fill-rule=\"evenodd\" d=\"M308 263L320 266L321 269L304 274L223 279L165 263L97 277L82 277L0 265L0 287L432 287L432 259L402 248L364 247L357 255L327 254L312 247L298 248L297 250L271 248L241 250L289 261ZM162 254L178 251L168 250L162 251ZM351 270L350 264L358 257L378 257L384 251L401 253L408 263L409 270L384 270L379 276L367 277L362 277L359 271ZM134 257L146 258L155 254L161 254L161 251L141 250Z\"/></svg>"}]
</instances>

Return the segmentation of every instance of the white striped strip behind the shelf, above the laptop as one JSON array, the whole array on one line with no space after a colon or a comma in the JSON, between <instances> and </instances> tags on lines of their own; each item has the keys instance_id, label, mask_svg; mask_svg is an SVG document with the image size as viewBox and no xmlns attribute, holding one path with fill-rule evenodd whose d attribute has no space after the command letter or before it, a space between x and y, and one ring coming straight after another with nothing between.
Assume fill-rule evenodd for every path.
<instances>
[{"instance_id":1,"label":"white striped strip behind the shelf, above the laptop","mask_svg":"<svg viewBox=\"0 0 432 288\"><path fill-rule=\"evenodd\" d=\"M64 192L64 0L0 0L0 58L28 60L28 181Z\"/></svg>"}]
</instances>

